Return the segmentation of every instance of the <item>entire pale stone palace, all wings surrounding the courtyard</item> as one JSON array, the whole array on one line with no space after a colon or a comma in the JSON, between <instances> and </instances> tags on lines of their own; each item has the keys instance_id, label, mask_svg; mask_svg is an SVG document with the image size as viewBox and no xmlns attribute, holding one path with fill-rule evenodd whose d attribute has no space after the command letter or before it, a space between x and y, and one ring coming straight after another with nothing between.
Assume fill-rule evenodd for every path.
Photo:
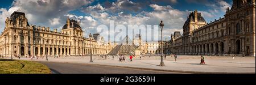
<instances>
[{"instance_id":1,"label":"entire pale stone palace, all wings surrounding the courtyard","mask_svg":"<svg viewBox=\"0 0 256 85\"><path fill-rule=\"evenodd\" d=\"M183 25L183 34L174 32L171 40L163 41L163 53L255 57L255 0L233 0L224 16L207 23L200 12L191 12ZM61 32L28 24L23 12L14 12L5 23L0 36L0 55L7 57L117 54L122 53L120 50L127 53L122 47L133 47L131 50L139 50L139 54L158 54L162 48L161 41L142 41L139 34L133 35L133 45L127 47L106 42L98 33L86 38L82 36L80 23L70 19Z\"/></svg>"}]
</instances>

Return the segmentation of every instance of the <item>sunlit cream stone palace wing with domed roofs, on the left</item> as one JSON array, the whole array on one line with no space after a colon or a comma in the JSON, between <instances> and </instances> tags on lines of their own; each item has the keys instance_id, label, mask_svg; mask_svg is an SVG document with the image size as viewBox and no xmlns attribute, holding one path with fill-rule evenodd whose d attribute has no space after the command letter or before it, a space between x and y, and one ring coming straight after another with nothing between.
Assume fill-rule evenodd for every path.
<instances>
[{"instance_id":1,"label":"sunlit cream stone palace wing with domed roofs, on the left","mask_svg":"<svg viewBox=\"0 0 256 85\"><path fill-rule=\"evenodd\" d=\"M91 34L89 38L83 37L76 20L67 19L61 32L57 32L57 29L51 31L49 27L30 25L23 12L15 11L5 23L0 36L1 56L82 56L89 52L108 54L112 50L112 45L103 37Z\"/></svg>"}]
</instances>

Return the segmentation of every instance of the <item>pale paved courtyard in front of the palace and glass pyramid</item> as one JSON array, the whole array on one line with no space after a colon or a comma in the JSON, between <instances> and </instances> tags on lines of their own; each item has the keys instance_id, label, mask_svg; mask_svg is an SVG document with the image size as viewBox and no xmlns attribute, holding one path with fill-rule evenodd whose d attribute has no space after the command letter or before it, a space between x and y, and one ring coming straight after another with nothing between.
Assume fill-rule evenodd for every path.
<instances>
[{"instance_id":1,"label":"pale paved courtyard in front of the palace and glass pyramid","mask_svg":"<svg viewBox=\"0 0 256 85\"><path fill-rule=\"evenodd\" d=\"M177 61L174 61L174 57L167 56L164 59L166 66L158 66L160 63L159 56L146 56L140 59L135 57L132 62L129 61L129 56L126 56L126 61L119 62L118 57L112 56L99 57L93 56L93 62L89 62L90 57L49 57L48 62L66 62L66 63L88 63L96 65L108 65L108 66L120 66L120 67L132 67L138 69L151 69L151 70L165 70L165 71L177 71L185 73L255 73L255 57L205 57L205 65L200 65L200 56L177 56ZM7 57L10 58L10 57ZM18 58L14 58L18 59ZM46 59L28 59L20 58L31 61L46 61Z\"/></svg>"}]
</instances>

